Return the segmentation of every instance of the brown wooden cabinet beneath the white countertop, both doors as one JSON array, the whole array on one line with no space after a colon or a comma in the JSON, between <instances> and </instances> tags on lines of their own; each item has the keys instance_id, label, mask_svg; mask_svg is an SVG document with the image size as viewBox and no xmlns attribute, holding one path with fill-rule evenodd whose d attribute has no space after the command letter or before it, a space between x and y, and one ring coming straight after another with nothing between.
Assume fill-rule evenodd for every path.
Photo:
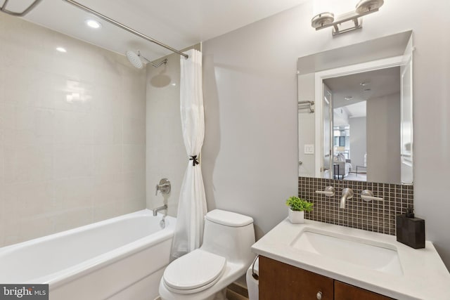
<instances>
[{"instance_id":1,"label":"brown wooden cabinet beneath the white countertop, both doors","mask_svg":"<svg viewBox=\"0 0 450 300\"><path fill-rule=\"evenodd\" d=\"M392 298L259 256L259 299L385 300Z\"/></svg>"}]
</instances>

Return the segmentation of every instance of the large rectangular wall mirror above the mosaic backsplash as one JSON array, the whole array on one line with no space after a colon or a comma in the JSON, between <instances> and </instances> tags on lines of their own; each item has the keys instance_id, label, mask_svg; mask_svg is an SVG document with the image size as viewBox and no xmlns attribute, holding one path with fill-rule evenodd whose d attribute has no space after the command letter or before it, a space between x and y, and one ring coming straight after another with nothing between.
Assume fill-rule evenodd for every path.
<instances>
[{"instance_id":1,"label":"large rectangular wall mirror above the mosaic backsplash","mask_svg":"<svg viewBox=\"0 0 450 300\"><path fill-rule=\"evenodd\" d=\"M413 183L412 32L298 61L299 176Z\"/></svg>"}]
</instances>

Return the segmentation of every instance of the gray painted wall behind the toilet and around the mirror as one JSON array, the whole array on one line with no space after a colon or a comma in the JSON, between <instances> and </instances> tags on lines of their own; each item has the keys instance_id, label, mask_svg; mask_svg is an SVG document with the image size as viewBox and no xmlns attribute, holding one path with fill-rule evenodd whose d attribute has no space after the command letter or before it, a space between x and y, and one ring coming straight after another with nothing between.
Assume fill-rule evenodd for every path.
<instances>
[{"instance_id":1,"label":"gray painted wall behind the toilet and around the mirror","mask_svg":"<svg viewBox=\"0 0 450 300\"><path fill-rule=\"evenodd\" d=\"M311 28L309 1L205 41L208 209L253 216L259 236L285 218L283 202L297 194L297 58L413 30L416 216L426 220L427 239L450 266L450 239L442 230L450 227L449 10L446 0L432 6L385 1L379 12L364 17L362 30L333 38L330 30Z\"/></svg>"}]
</instances>

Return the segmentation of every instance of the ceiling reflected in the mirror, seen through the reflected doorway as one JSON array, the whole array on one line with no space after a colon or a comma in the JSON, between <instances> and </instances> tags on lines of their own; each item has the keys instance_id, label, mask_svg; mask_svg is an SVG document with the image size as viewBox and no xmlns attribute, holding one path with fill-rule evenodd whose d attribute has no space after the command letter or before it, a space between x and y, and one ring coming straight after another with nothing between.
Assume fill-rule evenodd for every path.
<instances>
[{"instance_id":1,"label":"ceiling reflected in the mirror, seen through the reflected doorway","mask_svg":"<svg viewBox=\"0 0 450 300\"><path fill-rule=\"evenodd\" d=\"M323 82L333 92L334 108L345 107L349 117L364 117L366 103L363 101L400 91L400 67L328 78Z\"/></svg>"}]
</instances>

